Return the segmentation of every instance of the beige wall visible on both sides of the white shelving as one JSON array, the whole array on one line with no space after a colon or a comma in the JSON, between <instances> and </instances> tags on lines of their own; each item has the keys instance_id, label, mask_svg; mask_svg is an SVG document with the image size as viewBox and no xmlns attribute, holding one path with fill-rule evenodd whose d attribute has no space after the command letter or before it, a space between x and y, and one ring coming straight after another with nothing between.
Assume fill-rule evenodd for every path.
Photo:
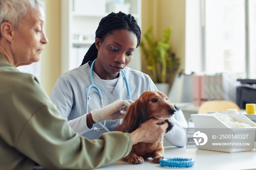
<instances>
[{"instance_id":1,"label":"beige wall visible on both sides of the white shelving","mask_svg":"<svg viewBox=\"0 0 256 170\"><path fill-rule=\"evenodd\" d=\"M42 53L41 84L50 95L60 76L60 1L41 0L46 3L46 35L49 43ZM180 69L185 68L185 0L142 0L142 36L148 27L155 28L159 37L167 27L173 28L170 44L181 59ZM142 59L145 63L144 59ZM147 73L146 66L142 71ZM173 77L170 77L173 79ZM172 81L171 83L172 84Z\"/></svg>"}]
</instances>

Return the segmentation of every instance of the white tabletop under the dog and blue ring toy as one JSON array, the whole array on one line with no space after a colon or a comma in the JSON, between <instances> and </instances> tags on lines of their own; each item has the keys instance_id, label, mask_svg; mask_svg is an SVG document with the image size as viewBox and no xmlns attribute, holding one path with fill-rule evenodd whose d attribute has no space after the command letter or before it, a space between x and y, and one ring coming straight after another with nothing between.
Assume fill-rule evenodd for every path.
<instances>
[{"instance_id":1,"label":"white tabletop under the dog and blue ring toy","mask_svg":"<svg viewBox=\"0 0 256 170\"><path fill-rule=\"evenodd\" d=\"M195 165L183 170L244 170L256 169L256 149L246 152L226 153L200 149L186 149L174 146L165 147L164 156L167 158L182 157L192 158ZM116 161L98 170L168 170L159 164L151 162L151 159L139 165L130 165L124 161ZM43 169L40 169L43 170Z\"/></svg>"}]
</instances>

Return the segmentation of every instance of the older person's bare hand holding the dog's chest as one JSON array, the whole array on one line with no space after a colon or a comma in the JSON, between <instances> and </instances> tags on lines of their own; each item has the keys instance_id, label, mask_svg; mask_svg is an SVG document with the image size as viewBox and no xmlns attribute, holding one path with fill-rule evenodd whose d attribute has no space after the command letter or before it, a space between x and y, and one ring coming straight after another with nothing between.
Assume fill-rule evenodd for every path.
<instances>
[{"instance_id":1,"label":"older person's bare hand holding the dog's chest","mask_svg":"<svg viewBox=\"0 0 256 170\"><path fill-rule=\"evenodd\" d=\"M168 123L163 120L149 119L142 123L139 128L131 132L132 144L139 142L157 143L165 135Z\"/></svg>"}]
</instances>

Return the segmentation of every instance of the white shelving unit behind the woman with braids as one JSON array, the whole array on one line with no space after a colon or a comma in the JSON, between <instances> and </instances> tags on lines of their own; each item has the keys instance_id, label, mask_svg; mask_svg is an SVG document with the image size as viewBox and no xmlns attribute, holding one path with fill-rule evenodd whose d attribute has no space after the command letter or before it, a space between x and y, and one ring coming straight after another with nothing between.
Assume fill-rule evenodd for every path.
<instances>
[{"instance_id":1,"label":"white shelving unit behind the woman with braids","mask_svg":"<svg viewBox=\"0 0 256 170\"><path fill-rule=\"evenodd\" d=\"M74 2L74 0L61 0L61 74L80 65L80 56L76 55L75 48L85 47L84 49L87 49L87 47L91 46L94 43L95 31L100 20L110 13L108 3L106 3L107 12L97 13L98 11L95 12L95 10L91 10L91 13L81 10L75 12ZM126 0L126 2L131 4L129 10L141 27L141 0ZM98 9L98 6L90 6L90 8ZM82 41L79 41L75 37L77 35L89 37L90 40L85 40L86 38L84 38ZM136 50L132 62L129 63L129 67L141 70L140 48Z\"/></svg>"}]
</instances>

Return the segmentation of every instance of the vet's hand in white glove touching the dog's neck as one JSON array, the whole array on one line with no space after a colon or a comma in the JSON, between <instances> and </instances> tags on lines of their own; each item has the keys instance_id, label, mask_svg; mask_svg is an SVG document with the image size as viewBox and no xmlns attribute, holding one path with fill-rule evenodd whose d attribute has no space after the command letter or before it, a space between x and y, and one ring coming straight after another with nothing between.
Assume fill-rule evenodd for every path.
<instances>
[{"instance_id":1,"label":"vet's hand in white glove touching the dog's neck","mask_svg":"<svg viewBox=\"0 0 256 170\"><path fill-rule=\"evenodd\" d=\"M91 116L96 123L99 123L104 120L116 120L122 119L124 117L124 113L121 111L126 111L128 106L133 103L132 100L116 100L113 103L101 108L94 109L91 111Z\"/></svg>"}]
</instances>

